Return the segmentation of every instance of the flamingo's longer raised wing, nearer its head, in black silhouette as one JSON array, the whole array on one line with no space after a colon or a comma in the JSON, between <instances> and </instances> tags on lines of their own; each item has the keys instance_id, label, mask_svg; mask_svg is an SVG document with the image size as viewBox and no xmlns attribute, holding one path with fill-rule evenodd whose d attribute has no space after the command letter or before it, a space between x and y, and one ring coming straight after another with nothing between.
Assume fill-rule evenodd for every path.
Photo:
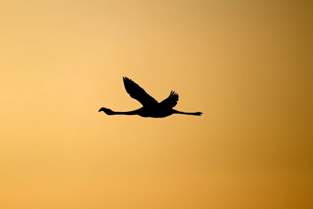
<instances>
[{"instance_id":1,"label":"flamingo's longer raised wing, nearer its head, in black silhouette","mask_svg":"<svg viewBox=\"0 0 313 209\"><path fill-rule=\"evenodd\" d=\"M143 106L151 106L151 105L155 105L158 103L153 97L147 94L146 91L143 90L143 88L138 86L138 84L136 84L131 79L127 77L125 78L123 77L123 81L124 81L126 92L129 93L131 98L136 99Z\"/></svg>"}]
</instances>

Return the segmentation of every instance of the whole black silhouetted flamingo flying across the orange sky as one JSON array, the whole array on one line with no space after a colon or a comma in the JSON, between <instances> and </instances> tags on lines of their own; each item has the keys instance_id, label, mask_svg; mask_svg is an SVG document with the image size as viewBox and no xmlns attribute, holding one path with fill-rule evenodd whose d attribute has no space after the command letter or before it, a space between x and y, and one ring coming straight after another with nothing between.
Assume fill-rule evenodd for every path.
<instances>
[{"instance_id":1,"label":"whole black silhouetted flamingo flying across the orange sky","mask_svg":"<svg viewBox=\"0 0 313 209\"><path fill-rule=\"evenodd\" d=\"M178 94L175 91L171 91L170 96L168 96L162 102L157 102L153 97L146 93L143 88L127 77L123 77L124 86L126 92L131 96L131 98L136 99L142 104L143 107L129 111L129 112L114 112L108 108L101 107L98 111L103 111L107 115L139 115L141 117L150 118L165 118L172 114L184 114L184 115L198 115L201 116L202 112L180 112L174 110L173 107L176 106L178 101Z\"/></svg>"}]
</instances>

